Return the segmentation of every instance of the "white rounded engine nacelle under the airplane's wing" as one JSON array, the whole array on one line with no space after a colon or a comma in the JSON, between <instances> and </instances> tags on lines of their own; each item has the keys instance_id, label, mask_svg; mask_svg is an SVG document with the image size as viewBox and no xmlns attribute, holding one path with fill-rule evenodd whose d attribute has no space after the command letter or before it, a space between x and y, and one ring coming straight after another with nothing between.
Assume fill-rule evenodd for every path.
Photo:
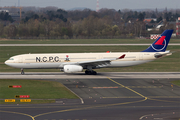
<instances>
[{"instance_id":1,"label":"white rounded engine nacelle under the airplane's wing","mask_svg":"<svg viewBox=\"0 0 180 120\"><path fill-rule=\"evenodd\" d=\"M82 72L83 67L80 65L65 65L64 72L65 73L75 73L75 72Z\"/></svg>"}]
</instances>

